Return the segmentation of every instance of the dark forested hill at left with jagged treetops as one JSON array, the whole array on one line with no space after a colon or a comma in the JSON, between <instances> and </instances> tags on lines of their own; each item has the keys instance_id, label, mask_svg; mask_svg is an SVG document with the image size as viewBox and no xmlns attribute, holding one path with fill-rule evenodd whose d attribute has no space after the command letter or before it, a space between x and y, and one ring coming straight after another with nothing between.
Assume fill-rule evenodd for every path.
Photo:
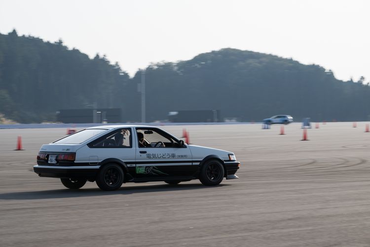
<instances>
[{"instance_id":1,"label":"dark forested hill at left with jagged treetops","mask_svg":"<svg viewBox=\"0 0 370 247\"><path fill-rule=\"evenodd\" d=\"M119 107L129 77L98 55L61 41L0 34L0 113L21 123L53 121L59 109Z\"/></svg>"}]
</instances>

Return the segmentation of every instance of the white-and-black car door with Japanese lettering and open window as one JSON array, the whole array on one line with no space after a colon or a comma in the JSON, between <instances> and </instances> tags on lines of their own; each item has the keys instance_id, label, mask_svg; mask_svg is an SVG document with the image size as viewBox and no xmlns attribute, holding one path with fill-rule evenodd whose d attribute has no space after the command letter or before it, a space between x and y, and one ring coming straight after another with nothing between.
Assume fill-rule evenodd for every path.
<instances>
[{"instance_id":1,"label":"white-and-black car door with Japanese lettering and open window","mask_svg":"<svg viewBox=\"0 0 370 247\"><path fill-rule=\"evenodd\" d=\"M180 147L174 136L155 127L137 127L136 133L145 141L145 146L139 145L136 134L137 178L187 177L195 172L190 149Z\"/></svg>"}]
</instances>

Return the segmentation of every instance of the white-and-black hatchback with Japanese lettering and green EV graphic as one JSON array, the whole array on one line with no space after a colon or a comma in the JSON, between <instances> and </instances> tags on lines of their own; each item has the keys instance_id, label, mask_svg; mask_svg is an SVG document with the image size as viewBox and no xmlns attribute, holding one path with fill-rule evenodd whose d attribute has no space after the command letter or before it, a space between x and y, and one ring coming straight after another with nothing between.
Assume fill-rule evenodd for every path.
<instances>
[{"instance_id":1,"label":"white-and-black hatchback with Japanese lettering and green EV graphic","mask_svg":"<svg viewBox=\"0 0 370 247\"><path fill-rule=\"evenodd\" d=\"M42 145L34 171L60 178L70 189L96 181L110 191L126 182L199 179L218 185L224 177L238 178L239 166L232 152L185 144L157 127L114 125L86 128Z\"/></svg>"}]
</instances>

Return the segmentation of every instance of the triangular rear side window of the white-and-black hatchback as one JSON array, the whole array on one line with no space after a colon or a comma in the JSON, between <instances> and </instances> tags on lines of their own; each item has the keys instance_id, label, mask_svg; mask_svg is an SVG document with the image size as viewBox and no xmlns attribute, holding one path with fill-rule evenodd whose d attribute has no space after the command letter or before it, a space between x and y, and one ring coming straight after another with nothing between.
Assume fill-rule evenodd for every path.
<instances>
[{"instance_id":1,"label":"triangular rear side window of the white-and-black hatchback","mask_svg":"<svg viewBox=\"0 0 370 247\"><path fill-rule=\"evenodd\" d=\"M132 148L130 128L116 129L88 144L90 148Z\"/></svg>"}]
</instances>

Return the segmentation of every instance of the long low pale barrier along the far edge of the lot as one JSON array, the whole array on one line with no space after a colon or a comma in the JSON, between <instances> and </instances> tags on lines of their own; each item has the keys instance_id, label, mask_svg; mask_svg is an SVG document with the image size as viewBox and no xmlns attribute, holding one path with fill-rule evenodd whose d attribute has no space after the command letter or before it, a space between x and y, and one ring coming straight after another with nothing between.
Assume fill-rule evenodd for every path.
<instances>
[{"instance_id":1,"label":"long low pale barrier along the far edge of the lot","mask_svg":"<svg viewBox=\"0 0 370 247\"><path fill-rule=\"evenodd\" d=\"M5 128L88 128L106 125L222 125L222 124L260 124L246 122L225 122L225 123L117 123L117 124L0 124L0 129Z\"/></svg>"}]
</instances>

